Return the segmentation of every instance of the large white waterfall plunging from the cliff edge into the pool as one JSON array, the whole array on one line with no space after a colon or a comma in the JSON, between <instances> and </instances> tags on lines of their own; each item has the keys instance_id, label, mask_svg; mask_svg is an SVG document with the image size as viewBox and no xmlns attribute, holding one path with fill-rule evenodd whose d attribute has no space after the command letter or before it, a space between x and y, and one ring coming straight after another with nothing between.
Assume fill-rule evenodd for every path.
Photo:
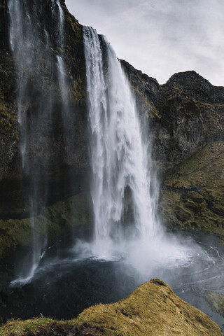
<instances>
[{"instance_id":1,"label":"large white waterfall plunging from the cliff edge into the pool","mask_svg":"<svg viewBox=\"0 0 224 336\"><path fill-rule=\"evenodd\" d=\"M105 258L130 241L150 244L160 226L158 183L151 164L146 119L139 118L130 83L111 45L83 29L90 121L94 255ZM134 221L123 223L125 190Z\"/></svg>"}]
</instances>

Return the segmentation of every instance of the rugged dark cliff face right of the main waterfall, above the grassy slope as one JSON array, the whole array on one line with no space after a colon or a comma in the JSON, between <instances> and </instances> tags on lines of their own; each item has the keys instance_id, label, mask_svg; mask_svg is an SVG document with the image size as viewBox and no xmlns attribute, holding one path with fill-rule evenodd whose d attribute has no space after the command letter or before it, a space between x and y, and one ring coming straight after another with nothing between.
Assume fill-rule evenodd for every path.
<instances>
[{"instance_id":1,"label":"rugged dark cliff face right of the main waterfall, above the grassy slope","mask_svg":"<svg viewBox=\"0 0 224 336\"><path fill-rule=\"evenodd\" d=\"M172 167L209 141L224 140L224 87L195 71L176 73L165 85L123 62L139 108L148 113L153 158Z\"/></svg>"}]
</instances>

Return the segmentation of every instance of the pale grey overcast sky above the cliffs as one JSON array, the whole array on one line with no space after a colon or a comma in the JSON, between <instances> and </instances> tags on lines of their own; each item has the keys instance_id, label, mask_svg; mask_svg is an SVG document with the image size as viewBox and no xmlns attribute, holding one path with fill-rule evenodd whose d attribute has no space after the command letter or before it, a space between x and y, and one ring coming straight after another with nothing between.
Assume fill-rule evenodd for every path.
<instances>
[{"instance_id":1,"label":"pale grey overcast sky above the cliffs","mask_svg":"<svg viewBox=\"0 0 224 336\"><path fill-rule=\"evenodd\" d=\"M195 70L224 86L224 0L66 0L120 59L157 78Z\"/></svg>"}]
</instances>

